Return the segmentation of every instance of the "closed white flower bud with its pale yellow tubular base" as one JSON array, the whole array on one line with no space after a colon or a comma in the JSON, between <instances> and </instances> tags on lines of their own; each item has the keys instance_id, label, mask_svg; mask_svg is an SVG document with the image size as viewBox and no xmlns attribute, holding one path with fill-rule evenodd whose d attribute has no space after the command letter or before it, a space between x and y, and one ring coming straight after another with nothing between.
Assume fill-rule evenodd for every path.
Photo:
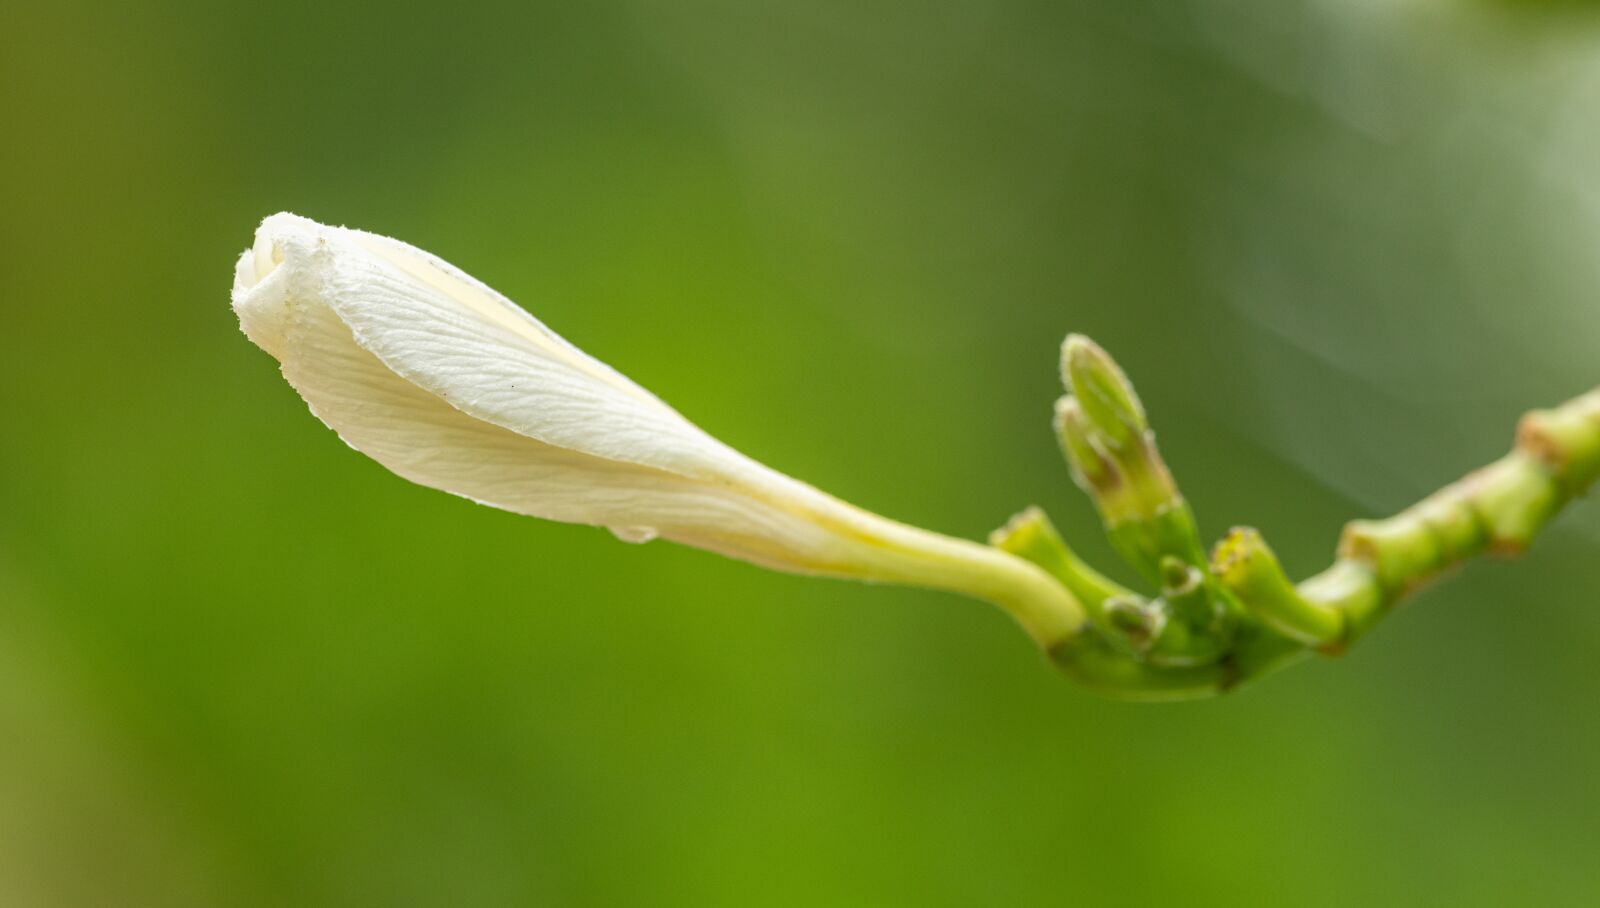
<instances>
[{"instance_id":1,"label":"closed white flower bud with its pale yellow tubular base","mask_svg":"<svg viewBox=\"0 0 1600 908\"><path fill-rule=\"evenodd\" d=\"M994 601L1045 647L1083 611L1006 552L864 512L778 473L443 261L274 214L234 310L312 412L395 473L517 513L765 568Z\"/></svg>"}]
</instances>

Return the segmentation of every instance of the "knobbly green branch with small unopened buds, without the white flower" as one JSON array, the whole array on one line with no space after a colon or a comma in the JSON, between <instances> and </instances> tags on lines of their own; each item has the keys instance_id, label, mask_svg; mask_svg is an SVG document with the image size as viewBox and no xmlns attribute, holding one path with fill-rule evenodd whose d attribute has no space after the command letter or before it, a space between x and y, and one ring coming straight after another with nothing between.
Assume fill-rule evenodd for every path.
<instances>
[{"instance_id":1,"label":"knobbly green branch with small unopened buds, without the white flower","mask_svg":"<svg viewBox=\"0 0 1600 908\"><path fill-rule=\"evenodd\" d=\"M1406 595L1462 561L1515 555L1600 478L1600 388L1526 414L1510 454L1386 520L1344 528L1326 571L1293 583L1251 528L1205 558L1194 515L1155 448L1144 406L1086 337L1062 350L1069 395L1056 432L1117 552L1160 595L1141 598L1090 568L1038 508L990 545L1056 577L1085 607L1051 660L1099 692L1174 700L1216 695L1314 652L1344 652Z\"/></svg>"}]
</instances>

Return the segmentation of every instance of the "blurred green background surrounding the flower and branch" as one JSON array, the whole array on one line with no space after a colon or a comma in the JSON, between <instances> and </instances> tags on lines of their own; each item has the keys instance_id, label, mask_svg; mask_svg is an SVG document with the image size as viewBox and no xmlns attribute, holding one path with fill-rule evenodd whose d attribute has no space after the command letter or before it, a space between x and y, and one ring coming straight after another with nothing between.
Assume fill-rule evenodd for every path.
<instances>
[{"instance_id":1,"label":"blurred green background surrounding the flower and branch","mask_svg":"<svg viewBox=\"0 0 1600 908\"><path fill-rule=\"evenodd\" d=\"M1123 705L997 611L410 486L237 331L278 209L981 537L1056 345L1296 572L1600 380L1600 16L0 6L0 905L1595 905L1600 508L1342 662Z\"/></svg>"}]
</instances>

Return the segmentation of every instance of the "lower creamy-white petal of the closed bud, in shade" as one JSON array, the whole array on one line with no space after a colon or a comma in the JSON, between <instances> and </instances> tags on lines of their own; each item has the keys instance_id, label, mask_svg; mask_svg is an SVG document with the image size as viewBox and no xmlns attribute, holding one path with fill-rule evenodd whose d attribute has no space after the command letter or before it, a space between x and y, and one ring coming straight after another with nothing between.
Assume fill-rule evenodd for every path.
<instances>
[{"instance_id":1,"label":"lower creamy-white petal of the closed bud, in shade","mask_svg":"<svg viewBox=\"0 0 1600 908\"><path fill-rule=\"evenodd\" d=\"M736 555L787 553L792 569L822 558L834 542L813 521L730 486L547 444L475 419L408 382L355 342L325 302L323 275L301 267L315 262L317 245L317 238L304 245L290 238L280 240L277 254L245 253L235 309L312 411L384 467L547 520L691 536ZM270 264L258 265L269 256Z\"/></svg>"}]
</instances>

